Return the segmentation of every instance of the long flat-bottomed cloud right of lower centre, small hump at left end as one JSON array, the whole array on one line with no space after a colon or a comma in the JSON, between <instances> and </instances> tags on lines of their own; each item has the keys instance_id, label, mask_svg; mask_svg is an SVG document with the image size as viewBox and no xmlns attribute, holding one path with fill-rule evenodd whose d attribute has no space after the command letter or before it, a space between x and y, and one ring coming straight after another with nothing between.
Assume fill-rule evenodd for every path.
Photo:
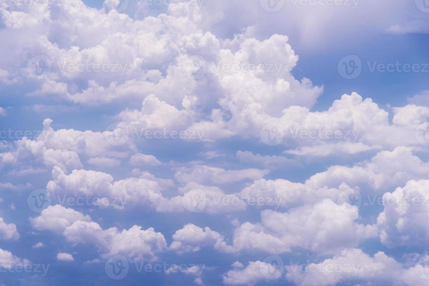
<instances>
[{"instance_id":1,"label":"long flat-bottomed cloud right of lower centre, small hump at left end","mask_svg":"<svg viewBox=\"0 0 429 286\"><path fill-rule=\"evenodd\" d=\"M218 232L209 228L203 231L189 224L173 235L175 241L171 247L179 251L196 251L203 245L226 253L261 251L272 254L290 252L298 247L319 253L338 253L378 234L375 225L356 223L359 219L357 207L349 207L356 211L344 212L337 204L325 199L287 213L265 210L261 212L261 223L243 223L234 231L232 246L227 245Z\"/></svg>"}]
</instances>

